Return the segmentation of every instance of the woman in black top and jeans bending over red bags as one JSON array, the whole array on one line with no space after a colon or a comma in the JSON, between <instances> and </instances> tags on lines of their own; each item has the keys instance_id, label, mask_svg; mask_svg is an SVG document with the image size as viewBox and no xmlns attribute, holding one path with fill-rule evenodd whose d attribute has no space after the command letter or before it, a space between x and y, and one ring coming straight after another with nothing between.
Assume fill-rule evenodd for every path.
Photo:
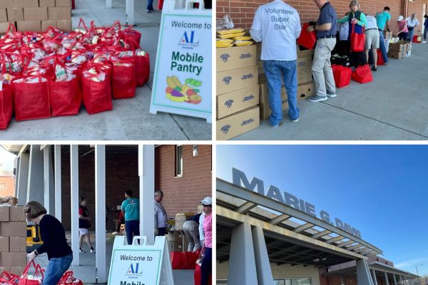
<instances>
[{"instance_id":1,"label":"woman in black top and jeans bending over red bags","mask_svg":"<svg viewBox=\"0 0 428 285\"><path fill-rule=\"evenodd\" d=\"M29 254L29 262L39 254L48 254L49 264L41 285L56 285L73 261L73 252L67 244L66 232L56 217L47 214L45 207L31 201L24 207L28 222L39 224L43 244Z\"/></svg>"}]
</instances>

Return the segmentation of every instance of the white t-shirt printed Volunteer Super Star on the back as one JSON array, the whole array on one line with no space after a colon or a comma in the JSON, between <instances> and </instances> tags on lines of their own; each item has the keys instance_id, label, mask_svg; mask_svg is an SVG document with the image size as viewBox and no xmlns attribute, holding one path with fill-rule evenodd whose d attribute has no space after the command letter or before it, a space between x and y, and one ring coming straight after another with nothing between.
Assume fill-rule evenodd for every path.
<instances>
[{"instance_id":1,"label":"white t-shirt printed Volunteer Super Star on the back","mask_svg":"<svg viewBox=\"0 0 428 285\"><path fill-rule=\"evenodd\" d=\"M300 36L302 27L299 13L292 6L281 0L260 6L251 29L261 31L263 61L297 59L296 38Z\"/></svg>"}]
</instances>

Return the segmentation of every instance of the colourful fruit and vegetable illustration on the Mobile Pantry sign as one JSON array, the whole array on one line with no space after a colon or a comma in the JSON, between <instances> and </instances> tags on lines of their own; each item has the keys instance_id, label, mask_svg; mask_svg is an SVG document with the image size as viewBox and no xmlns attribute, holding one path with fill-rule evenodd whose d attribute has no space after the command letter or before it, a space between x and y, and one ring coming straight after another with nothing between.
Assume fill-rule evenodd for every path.
<instances>
[{"instance_id":1,"label":"colourful fruit and vegetable illustration on the Mobile Pantry sign","mask_svg":"<svg viewBox=\"0 0 428 285\"><path fill-rule=\"evenodd\" d=\"M177 77L167 76L166 84L168 87L165 89L165 98L168 98L173 102L199 104L200 101L202 101L202 96L198 94L200 93L200 90L197 89L202 85L201 81L188 78L182 85Z\"/></svg>"}]
</instances>

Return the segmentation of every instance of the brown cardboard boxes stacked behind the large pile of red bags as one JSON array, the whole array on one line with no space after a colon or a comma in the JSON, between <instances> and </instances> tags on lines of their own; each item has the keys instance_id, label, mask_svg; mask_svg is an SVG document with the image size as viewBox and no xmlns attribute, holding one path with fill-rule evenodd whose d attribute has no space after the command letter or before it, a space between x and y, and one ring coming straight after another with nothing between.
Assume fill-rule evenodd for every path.
<instances>
[{"instance_id":1,"label":"brown cardboard boxes stacked behind the large pile of red bags","mask_svg":"<svg viewBox=\"0 0 428 285\"><path fill-rule=\"evenodd\" d=\"M71 0L1 0L0 34L6 33L9 22L18 31L46 31L57 26L71 32Z\"/></svg>"}]
</instances>

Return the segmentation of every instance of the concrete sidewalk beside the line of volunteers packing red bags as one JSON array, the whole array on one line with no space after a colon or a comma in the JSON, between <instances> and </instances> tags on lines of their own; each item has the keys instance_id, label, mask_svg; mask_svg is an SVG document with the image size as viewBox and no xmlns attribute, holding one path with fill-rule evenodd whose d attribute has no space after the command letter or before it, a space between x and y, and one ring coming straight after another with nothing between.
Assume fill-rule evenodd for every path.
<instances>
[{"instance_id":1,"label":"concrete sidewalk beside the line of volunteers packing red bags","mask_svg":"<svg viewBox=\"0 0 428 285\"><path fill-rule=\"evenodd\" d=\"M428 44L413 43L412 56L389 58L372 75L371 83L337 88L336 98L297 101L297 123L286 110L279 128L260 121L233 140L427 140Z\"/></svg>"}]
</instances>

